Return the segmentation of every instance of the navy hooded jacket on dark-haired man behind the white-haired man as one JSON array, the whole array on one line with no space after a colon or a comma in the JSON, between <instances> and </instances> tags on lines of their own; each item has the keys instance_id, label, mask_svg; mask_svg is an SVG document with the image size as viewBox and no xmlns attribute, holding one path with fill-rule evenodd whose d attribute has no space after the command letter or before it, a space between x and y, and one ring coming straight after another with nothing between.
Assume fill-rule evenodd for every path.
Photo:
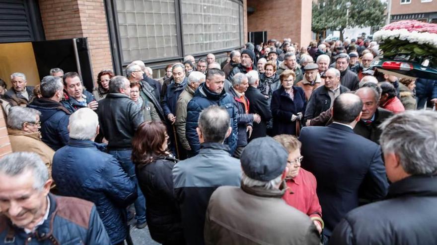
<instances>
[{"instance_id":1,"label":"navy hooded jacket on dark-haired man behind the white-haired man","mask_svg":"<svg viewBox=\"0 0 437 245\"><path fill-rule=\"evenodd\" d=\"M41 112L42 141L55 151L67 145L71 112L60 102L49 98L35 98L28 106Z\"/></svg>"}]
</instances>

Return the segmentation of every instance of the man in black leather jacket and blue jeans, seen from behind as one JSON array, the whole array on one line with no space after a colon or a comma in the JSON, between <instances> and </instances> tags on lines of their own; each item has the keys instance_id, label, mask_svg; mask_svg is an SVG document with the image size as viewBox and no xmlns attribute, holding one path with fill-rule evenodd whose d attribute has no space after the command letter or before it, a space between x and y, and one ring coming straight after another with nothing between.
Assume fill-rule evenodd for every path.
<instances>
[{"instance_id":1,"label":"man in black leather jacket and blue jeans, seen from behind","mask_svg":"<svg viewBox=\"0 0 437 245\"><path fill-rule=\"evenodd\" d=\"M143 71L141 71L143 72ZM109 93L100 100L99 116L100 134L108 140L108 153L120 161L125 172L138 186L132 157L132 138L138 126L144 121L143 113L129 97L130 82L126 77L114 76L109 81ZM146 200L140 188L135 201L135 218L137 228L146 227Z\"/></svg>"}]
</instances>

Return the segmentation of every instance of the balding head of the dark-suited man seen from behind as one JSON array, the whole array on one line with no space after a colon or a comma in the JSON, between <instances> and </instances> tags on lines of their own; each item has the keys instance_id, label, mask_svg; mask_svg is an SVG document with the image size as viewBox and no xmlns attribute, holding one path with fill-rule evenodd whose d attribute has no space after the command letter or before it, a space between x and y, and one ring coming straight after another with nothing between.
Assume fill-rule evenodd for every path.
<instances>
[{"instance_id":1,"label":"balding head of the dark-suited man seen from behind","mask_svg":"<svg viewBox=\"0 0 437 245\"><path fill-rule=\"evenodd\" d=\"M363 102L361 98L350 93L341 94L334 99L332 118L334 122L355 126L360 120Z\"/></svg>"}]
</instances>

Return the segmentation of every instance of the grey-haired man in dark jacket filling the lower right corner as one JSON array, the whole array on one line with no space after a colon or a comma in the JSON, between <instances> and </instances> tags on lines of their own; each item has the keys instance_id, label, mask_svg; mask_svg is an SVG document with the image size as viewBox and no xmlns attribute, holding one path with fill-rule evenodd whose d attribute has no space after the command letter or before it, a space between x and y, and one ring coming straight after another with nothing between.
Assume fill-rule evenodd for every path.
<instances>
[{"instance_id":1,"label":"grey-haired man in dark jacket filling the lower right corner","mask_svg":"<svg viewBox=\"0 0 437 245\"><path fill-rule=\"evenodd\" d=\"M410 110L381 125L388 195L350 211L330 244L437 243L436 121L435 112Z\"/></svg>"}]
</instances>

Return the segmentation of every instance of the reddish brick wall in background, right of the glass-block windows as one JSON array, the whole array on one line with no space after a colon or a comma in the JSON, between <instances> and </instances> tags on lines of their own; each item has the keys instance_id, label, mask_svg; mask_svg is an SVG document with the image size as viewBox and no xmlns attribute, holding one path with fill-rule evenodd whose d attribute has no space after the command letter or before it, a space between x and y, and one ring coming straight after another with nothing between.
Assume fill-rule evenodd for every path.
<instances>
[{"instance_id":1,"label":"reddish brick wall in background, right of the glass-block windows","mask_svg":"<svg viewBox=\"0 0 437 245\"><path fill-rule=\"evenodd\" d=\"M255 8L255 12L247 17L249 32L267 31L267 39L282 42L284 38L291 38L293 43L307 42L303 45L309 44L311 38L310 0L247 0L247 6Z\"/></svg>"}]
</instances>

